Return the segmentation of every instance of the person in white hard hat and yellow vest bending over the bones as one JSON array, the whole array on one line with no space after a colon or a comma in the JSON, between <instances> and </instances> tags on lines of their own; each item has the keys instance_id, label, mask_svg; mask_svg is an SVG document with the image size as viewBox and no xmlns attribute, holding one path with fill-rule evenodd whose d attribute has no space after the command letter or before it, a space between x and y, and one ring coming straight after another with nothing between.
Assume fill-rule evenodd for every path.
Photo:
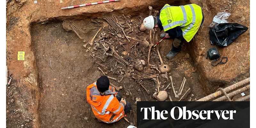
<instances>
[{"instance_id":1,"label":"person in white hard hat and yellow vest bending over the bones","mask_svg":"<svg viewBox=\"0 0 256 128\"><path fill-rule=\"evenodd\" d=\"M181 50L183 39L189 42L204 22L204 14L200 6L188 4L184 6L170 6L165 4L159 16L148 16L143 20L146 29L152 30L159 27L164 30L161 38L173 37L172 50L166 55L172 59Z\"/></svg>"}]
</instances>

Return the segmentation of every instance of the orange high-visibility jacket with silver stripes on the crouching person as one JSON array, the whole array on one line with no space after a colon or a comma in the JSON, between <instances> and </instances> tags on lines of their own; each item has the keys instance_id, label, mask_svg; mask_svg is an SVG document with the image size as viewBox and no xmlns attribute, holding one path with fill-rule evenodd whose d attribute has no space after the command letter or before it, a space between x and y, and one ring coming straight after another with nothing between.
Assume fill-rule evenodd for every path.
<instances>
[{"instance_id":1,"label":"orange high-visibility jacket with silver stripes on the crouching person","mask_svg":"<svg viewBox=\"0 0 256 128\"><path fill-rule=\"evenodd\" d=\"M124 116L124 103L116 99L115 88L109 86L105 95L101 96L97 90L96 82L86 88L87 102L92 106L96 118L105 123L114 123Z\"/></svg>"}]
</instances>

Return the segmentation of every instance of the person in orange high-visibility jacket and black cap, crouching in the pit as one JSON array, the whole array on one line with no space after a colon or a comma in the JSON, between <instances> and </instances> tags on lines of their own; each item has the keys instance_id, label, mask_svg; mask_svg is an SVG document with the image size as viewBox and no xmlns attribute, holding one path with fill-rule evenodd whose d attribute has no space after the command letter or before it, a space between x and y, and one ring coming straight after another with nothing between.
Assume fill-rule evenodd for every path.
<instances>
[{"instance_id":1,"label":"person in orange high-visibility jacket and black cap, crouching in the pit","mask_svg":"<svg viewBox=\"0 0 256 128\"><path fill-rule=\"evenodd\" d=\"M109 86L107 76L100 76L96 82L87 86L86 99L92 106L94 116L105 123L120 120L132 108L131 104L121 97L120 92Z\"/></svg>"}]
</instances>

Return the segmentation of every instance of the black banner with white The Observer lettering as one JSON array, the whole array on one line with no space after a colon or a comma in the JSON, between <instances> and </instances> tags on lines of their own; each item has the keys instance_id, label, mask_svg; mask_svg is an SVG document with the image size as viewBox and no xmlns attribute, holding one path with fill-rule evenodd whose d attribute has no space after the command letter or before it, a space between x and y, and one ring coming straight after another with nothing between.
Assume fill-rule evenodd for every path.
<instances>
[{"instance_id":1,"label":"black banner with white The Observer lettering","mask_svg":"<svg viewBox=\"0 0 256 128\"><path fill-rule=\"evenodd\" d=\"M249 101L140 101L138 128L249 128Z\"/></svg>"}]
</instances>

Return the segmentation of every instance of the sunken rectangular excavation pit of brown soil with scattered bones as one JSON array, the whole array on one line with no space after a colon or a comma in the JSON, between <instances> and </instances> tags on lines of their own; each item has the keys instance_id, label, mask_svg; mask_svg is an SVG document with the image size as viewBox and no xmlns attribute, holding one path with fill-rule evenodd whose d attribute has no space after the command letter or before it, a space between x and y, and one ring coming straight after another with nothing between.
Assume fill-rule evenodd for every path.
<instances>
[{"instance_id":1,"label":"sunken rectangular excavation pit of brown soil with scattered bones","mask_svg":"<svg viewBox=\"0 0 256 128\"><path fill-rule=\"evenodd\" d=\"M86 103L85 99L86 86L88 84L92 84L99 76L103 75L102 72L98 70L98 67L100 66L95 64L94 61L100 62L109 69L113 70L109 72L110 70L104 70L102 67L100 67L104 72L108 71L107 76L117 79L117 81L110 79L111 83L117 86L124 86L126 88L126 90L123 89L121 92L123 94L123 98L125 98L127 101L134 103L136 97L140 97L142 101L146 101L146 99L148 101L156 101L152 95L154 92L156 92L157 83L155 83L153 80L148 79L143 81L143 85L149 90L150 95L148 95L146 91L131 77L124 77L120 83L118 83L118 81L120 81L122 77L120 71L125 73L126 70L126 73L130 72L136 79L142 78L139 76L151 76L158 74L158 72L151 69L151 74L145 74L143 71L137 71L132 67L127 67L122 60L117 60L115 57L113 57L115 54L110 50L106 53L112 54L113 56L104 54L104 47L102 45L109 43L108 46L114 46L119 55L121 55L121 52L127 51L129 56L124 55L123 57L129 62L129 65L133 65L136 60L147 60L148 48L144 48L140 44L133 46L137 43L136 40L130 39L130 42L127 41L122 31L116 31L108 25L106 20L103 20L103 18L112 18L113 20L116 19L120 23L125 23L121 25L126 26L124 32L126 34L129 33L127 36L142 40L144 37L148 37L148 31L141 33L135 29L138 29L136 26L141 23L140 20L148 15L148 13L146 13L147 9L148 8L142 8L142 10L146 10L144 12L130 13L136 14L136 16L126 14L122 16L120 11L114 11L106 14L107 16L105 15L103 17L98 17L99 19L90 16L81 19L82 16L79 16L77 19L66 19L63 21L53 20L45 24L38 23L31 26L32 49L35 54L36 67L38 71L38 86L42 92L39 106L42 127L72 127L74 124L77 127L91 127L92 125L95 125L95 120L90 118L91 106ZM160 8L153 8L152 12L154 12L156 9L160 10ZM140 15L142 18L138 15ZM99 30L99 28L95 28L97 27L97 24L92 22L91 19L93 19L93 21L96 20L100 23L99 26L104 27L99 31L94 39L94 41L98 41L93 42L93 46L88 44L87 47L84 48L83 45L90 41L94 34ZM132 29L129 28L126 22L134 29L133 31L131 31ZM72 30L72 25L78 27L76 29L81 39ZM82 31L79 31L79 28ZM161 33L158 30L158 37L160 37L160 34ZM104 38L104 41L103 39L99 40L106 35L110 36ZM191 72L189 74L191 79L188 78L184 73L188 69L195 69L193 67L192 58L184 59L184 56L188 53L186 50L187 47L183 46L182 51L177 55L176 60L178 61L171 62L164 57L171 49L171 42L172 40L170 39L163 41L159 45L160 54L164 63L168 64L172 69L170 72L168 72L168 77L172 76L176 90L179 90L183 77L187 78L187 82L182 94L184 94L188 88L191 88L192 91L185 96L183 101L188 100L191 94L194 94L194 98L197 99L203 97L203 89L200 87L197 72ZM94 46L98 46L96 51L99 52L92 49ZM151 53L150 64L158 67L158 65L160 65L160 61L157 59L156 48L152 48ZM166 66L164 68L166 68ZM167 85L170 83L170 79L167 80L167 78L159 76L161 90L167 87ZM125 95L126 91L130 94L129 96ZM167 91L172 96L172 99L178 100L174 97L171 89ZM146 98L143 93L145 94ZM132 104L132 108L134 112L136 112L135 104ZM85 117L89 117L87 119L89 122L84 120ZM125 127L127 124L124 123L125 122L122 120L115 124L102 125L111 125L111 127ZM102 126L95 125L93 127Z\"/></svg>"}]
</instances>

